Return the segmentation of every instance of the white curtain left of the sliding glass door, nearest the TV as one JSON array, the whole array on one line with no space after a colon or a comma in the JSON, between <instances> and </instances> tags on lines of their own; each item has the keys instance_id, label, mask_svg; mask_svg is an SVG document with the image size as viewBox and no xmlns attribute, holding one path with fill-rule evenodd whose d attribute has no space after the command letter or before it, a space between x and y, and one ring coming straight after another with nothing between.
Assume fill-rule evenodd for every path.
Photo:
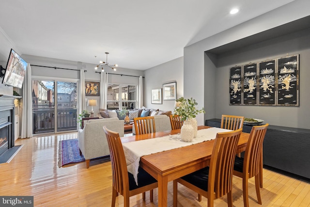
<instances>
[{"instance_id":1,"label":"white curtain left of the sliding glass door, nearest the TV","mask_svg":"<svg viewBox=\"0 0 310 207\"><path fill-rule=\"evenodd\" d=\"M32 81L31 81L31 66L27 64L26 75L23 82L23 104L21 117L21 135L20 138L32 137Z\"/></svg>"}]
</instances>

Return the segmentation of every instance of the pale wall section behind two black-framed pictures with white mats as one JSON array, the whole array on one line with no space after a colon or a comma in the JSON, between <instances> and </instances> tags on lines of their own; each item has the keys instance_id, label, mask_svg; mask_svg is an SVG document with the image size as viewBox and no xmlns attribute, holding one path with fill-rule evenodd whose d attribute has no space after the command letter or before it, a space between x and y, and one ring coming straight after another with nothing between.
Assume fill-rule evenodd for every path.
<instances>
[{"instance_id":1,"label":"pale wall section behind two black-framed pictures with white mats","mask_svg":"<svg viewBox=\"0 0 310 207\"><path fill-rule=\"evenodd\" d=\"M164 64L157 65L144 71L143 101L147 108L173 111L174 100L162 100L162 104L151 104L151 91L163 88L164 83L176 81L176 96L183 96L183 57Z\"/></svg>"}]
</instances>

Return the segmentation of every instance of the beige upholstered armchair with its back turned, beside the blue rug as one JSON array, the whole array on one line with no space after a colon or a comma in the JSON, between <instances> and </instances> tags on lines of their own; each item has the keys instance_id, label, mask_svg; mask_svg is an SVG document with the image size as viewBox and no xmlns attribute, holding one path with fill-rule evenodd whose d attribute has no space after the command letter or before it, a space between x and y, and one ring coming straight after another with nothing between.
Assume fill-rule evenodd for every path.
<instances>
[{"instance_id":1,"label":"beige upholstered armchair with its back turned, beside the blue rug","mask_svg":"<svg viewBox=\"0 0 310 207\"><path fill-rule=\"evenodd\" d=\"M78 129L78 147L84 155L87 168L89 168L90 159L110 154L103 126L124 137L124 120L118 118L91 119L83 129Z\"/></svg>"}]
</instances>

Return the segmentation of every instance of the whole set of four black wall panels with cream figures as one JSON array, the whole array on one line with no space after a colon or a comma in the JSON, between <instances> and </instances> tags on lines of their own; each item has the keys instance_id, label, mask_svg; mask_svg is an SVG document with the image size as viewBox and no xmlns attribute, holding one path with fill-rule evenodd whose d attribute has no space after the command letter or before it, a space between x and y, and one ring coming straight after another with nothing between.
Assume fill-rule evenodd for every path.
<instances>
[{"instance_id":1,"label":"whole set of four black wall panels with cream figures","mask_svg":"<svg viewBox=\"0 0 310 207\"><path fill-rule=\"evenodd\" d=\"M299 106L299 55L230 68L230 105Z\"/></svg>"}]
</instances>

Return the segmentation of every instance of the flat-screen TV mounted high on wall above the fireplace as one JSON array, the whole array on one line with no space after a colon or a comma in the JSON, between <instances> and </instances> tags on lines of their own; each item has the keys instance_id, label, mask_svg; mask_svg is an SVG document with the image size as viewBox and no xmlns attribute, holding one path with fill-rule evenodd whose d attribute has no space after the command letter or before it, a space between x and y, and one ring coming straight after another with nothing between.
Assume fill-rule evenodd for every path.
<instances>
[{"instance_id":1,"label":"flat-screen TV mounted high on wall above the fireplace","mask_svg":"<svg viewBox=\"0 0 310 207\"><path fill-rule=\"evenodd\" d=\"M2 84L22 88L26 70L27 62L11 49Z\"/></svg>"}]
</instances>

